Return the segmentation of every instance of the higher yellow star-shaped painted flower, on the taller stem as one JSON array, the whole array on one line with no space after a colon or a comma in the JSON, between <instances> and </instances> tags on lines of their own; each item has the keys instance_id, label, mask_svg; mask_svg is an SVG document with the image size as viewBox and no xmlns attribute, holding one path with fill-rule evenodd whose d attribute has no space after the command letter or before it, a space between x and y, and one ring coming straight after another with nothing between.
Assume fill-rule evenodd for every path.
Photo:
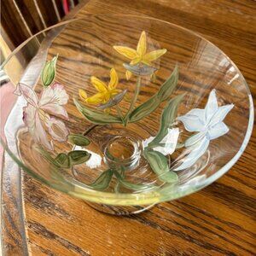
<instances>
[{"instance_id":1,"label":"higher yellow star-shaped painted flower, on the taller stem","mask_svg":"<svg viewBox=\"0 0 256 256\"><path fill-rule=\"evenodd\" d=\"M141 37L137 44L137 49L132 49L126 46L113 46L113 49L128 58L131 65L137 65L143 63L148 66L152 66L152 61L160 58L161 55L166 53L166 49L156 49L147 53L147 38L146 32L142 32ZM126 79L131 78L131 72L126 73Z\"/></svg>"}]
</instances>

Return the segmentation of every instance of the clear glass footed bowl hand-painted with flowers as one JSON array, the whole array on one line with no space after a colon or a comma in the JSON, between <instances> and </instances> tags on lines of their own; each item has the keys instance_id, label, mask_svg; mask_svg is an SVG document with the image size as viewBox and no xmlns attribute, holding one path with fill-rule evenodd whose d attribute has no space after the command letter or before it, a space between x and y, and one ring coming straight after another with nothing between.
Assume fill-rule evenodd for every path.
<instances>
[{"instance_id":1,"label":"clear glass footed bowl hand-painted with flowers","mask_svg":"<svg viewBox=\"0 0 256 256\"><path fill-rule=\"evenodd\" d=\"M2 68L19 96L2 139L10 157L102 212L143 212L206 187L236 163L253 128L236 65L163 20L67 20Z\"/></svg>"}]
</instances>

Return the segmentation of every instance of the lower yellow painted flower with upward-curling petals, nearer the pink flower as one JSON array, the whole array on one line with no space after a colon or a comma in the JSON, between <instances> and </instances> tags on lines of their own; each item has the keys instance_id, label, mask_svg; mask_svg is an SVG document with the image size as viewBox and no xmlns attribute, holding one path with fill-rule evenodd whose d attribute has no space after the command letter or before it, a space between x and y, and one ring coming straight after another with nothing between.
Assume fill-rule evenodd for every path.
<instances>
[{"instance_id":1,"label":"lower yellow painted flower with upward-curling petals, nearer the pink flower","mask_svg":"<svg viewBox=\"0 0 256 256\"><path fill-rule=\"evenodd\" d=\"M110 70L110 81L108 85L94 76L90 77L90 82L98 91L94 96L88 97L84 90L79 89L80 98L89 104L104 104L121 91L116 89L117 85L119 84L119 78L114 68Z\"/></svg>"}]
</instances>

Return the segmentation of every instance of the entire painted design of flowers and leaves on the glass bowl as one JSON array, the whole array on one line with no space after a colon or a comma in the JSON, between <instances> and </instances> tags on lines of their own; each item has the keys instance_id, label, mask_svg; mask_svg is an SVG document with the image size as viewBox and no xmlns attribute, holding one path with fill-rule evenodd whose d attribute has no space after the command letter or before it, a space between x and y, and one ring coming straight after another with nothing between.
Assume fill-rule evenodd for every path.
<instances>
[{"instance_id":1,"label":"entire painted design of flowers and leaves on the glass bowl","mask_svg":"<svg viewBox=\"0 0 256 256\"><path fill-rule=\"evenodd\" d=\"M154 77L158 70L154 67L154 61L166 54L166 49L148 52L147 35L144 31L140 35L136 49L117 45L113 46L113 49L130 61L123 63L126 69L126 79L130 79L132 74L137 76L137 83L134 84L134 88L130 89L134 90L134 93L128 101L127 108L121 108L119 103L123 101L128 89L120 90L118 88L119 75L114 68L110 70L108 84L96 76L91 76L90 82L95 87L96 94L88 96L85 90L80 89L80 101L73 99L73 102L84 118L93 124L92 127L110 124L126 126L130 123L136 123L164 105L158 131L154 136L148 137L142 142L141 157L148 161L150 170L161 182L177 183L178 171L193 166L207 152L213 139L221 137L229 131L227 125L224 124L224 118L234 105L218 107L216 91L212 90L206 108L195 108L183 116L177 116L179 104L183 100L183 95L172 96L178 84L177 65L173 68L169 78L159 86L159 90L148 97L147 101L140 102L138 97L145 80L142 78L143 76ZM53 140L68 141L68 143L73 144L72 151L58 155L49 154L44 148L41 150L43 156L57 168L73 168L73 166L81 164L90 168L97 168L101 166L103 158L100 154L95 154L86 148L90 144L86 131L83 134L69 134L64 122L58 119L58 117L68 119L64 108L68 96L61 84L54 83L56 61L57 56L44 65L41 74L44 90L39 98L35 91L26 84L19 84L17 91L24 96L27 102L24 108L24 123L34 140L48 150L53 149ZM116 111L113 111L113 108ZM181 131L177 128L177 121L183 123L186 131L195 132L185 142L177 143ZM92 129L90 128L89 131ZM184 148L184 150L175 162L171 160L169 155L173 154L177 148ZM121 164L118 167L111 166L108 161L105 164L108 169L102 172L93 183L86 184L91 189L108 189L112 177L116 177L115 190L117 191L120 186L136 191L153 189L154 187L149 183L135 184L125 180L125 167Z\"/></svg>"}]
</instances>

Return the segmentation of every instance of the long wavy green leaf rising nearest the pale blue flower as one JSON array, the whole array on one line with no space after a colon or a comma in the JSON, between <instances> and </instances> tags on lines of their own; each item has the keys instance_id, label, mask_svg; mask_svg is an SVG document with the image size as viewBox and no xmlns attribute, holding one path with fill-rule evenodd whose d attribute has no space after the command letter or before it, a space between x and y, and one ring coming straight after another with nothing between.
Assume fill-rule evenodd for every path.
<instances>
[{"instance_id":1,"label":"long wavy green leaf rising nearest the pale blue flower","mask_svg":"<svg viewBox=\"0 0 256 256\"><path fill-rule=\"evenodd\" d=\"M173 98L166 108L163 110L161 119L160 119L160 130L158 131L156 137L151 143L148 143L148 147L153 147L155 144L161 142L161 140L166 137L168 133L168 128L173 124L174 120L177 117L177 108L184 95L179 95Z\"/></svg>"}]
</instances>

